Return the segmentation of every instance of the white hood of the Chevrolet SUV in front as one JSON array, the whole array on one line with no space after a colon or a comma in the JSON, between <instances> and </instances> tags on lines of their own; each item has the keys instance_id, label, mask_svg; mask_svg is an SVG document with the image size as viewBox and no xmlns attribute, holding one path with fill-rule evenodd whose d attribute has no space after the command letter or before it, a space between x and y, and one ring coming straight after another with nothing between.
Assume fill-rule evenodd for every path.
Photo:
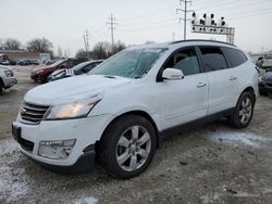
<instances>
[{"instance_id":1,"label":"white hood of the Chevrolet SUV in front","mask_svg":"<svg viewBox=\"0 0 272 204\"><path fill-rule=\"evenodd\" d=\"M30 89L24 100L32 103L53 105L102 94L109 89L131 84L133 79L103 75L75 76Z\"/></svg>"}]
</instances>

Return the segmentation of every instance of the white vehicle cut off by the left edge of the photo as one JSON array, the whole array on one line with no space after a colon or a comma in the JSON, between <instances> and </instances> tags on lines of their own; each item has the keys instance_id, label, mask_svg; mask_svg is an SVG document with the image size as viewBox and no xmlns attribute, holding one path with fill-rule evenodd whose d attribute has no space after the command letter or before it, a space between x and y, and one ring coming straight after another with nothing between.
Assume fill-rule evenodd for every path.
<instances>
[{"instance_id":1,"label":"white vehicle cut off by the left edge of the photo","mask_svg":"<svg viewBox=\"0 0 272 204\"><path fill-rule=\"evenodd\" d=\"M9 66L0 65L0 94L2 89L9 89L17 84L12 69Z\"/></svg>"}]
</instances>

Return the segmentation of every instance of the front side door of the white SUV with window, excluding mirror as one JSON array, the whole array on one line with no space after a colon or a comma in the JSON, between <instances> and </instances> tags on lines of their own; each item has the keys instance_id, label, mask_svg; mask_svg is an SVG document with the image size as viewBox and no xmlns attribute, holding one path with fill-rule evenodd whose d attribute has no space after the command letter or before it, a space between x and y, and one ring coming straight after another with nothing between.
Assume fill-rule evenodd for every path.
<instances>
[{"instance_id":1,"label":"front side door of the white SUV with window, excluding mirror","mask_svg":"<svg viewBox=\"0 0 272 204\"><path fill-rule=\"evenodd\" d=\"M205 117L208 112L209 84L207 76L200 73L195 48L172 53L162 67L165 68L181 69L184 78L158 82L162 129Z\"/></svg>"}]
</instances>

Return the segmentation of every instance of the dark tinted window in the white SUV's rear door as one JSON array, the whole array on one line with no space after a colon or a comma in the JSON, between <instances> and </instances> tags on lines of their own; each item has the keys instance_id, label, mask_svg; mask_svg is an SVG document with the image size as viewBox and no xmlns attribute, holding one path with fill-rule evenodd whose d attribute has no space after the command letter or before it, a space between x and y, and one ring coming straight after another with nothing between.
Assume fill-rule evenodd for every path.
<instances>
[{"instance_id":1,"label":"dark tinted window in the white SUV's rear door","mask_svg":"<svg viewBox=\"0 0 272 204\"><path fill-rule=\"evenodd\" d=\"M225 56L218 47L200 47L205 72L227 68Z\"/></svg>"}]
</instances>

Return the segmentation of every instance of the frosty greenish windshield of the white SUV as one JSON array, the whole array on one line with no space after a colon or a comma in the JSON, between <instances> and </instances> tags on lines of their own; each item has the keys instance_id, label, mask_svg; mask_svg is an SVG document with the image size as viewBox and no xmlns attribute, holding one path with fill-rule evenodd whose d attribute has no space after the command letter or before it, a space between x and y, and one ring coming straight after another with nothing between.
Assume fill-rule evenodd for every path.
<instances>
[{"instance_id":1,"label":"frosty greenish windshield of the white SUV","mask_svg":"<svg viewBox=\"0 0 272 204\"><path fill-rule=\"evenodd\" d=\"M89 74L141 78L165 50L161 48L125 50L98 65Z\"/></svg>"}]
</instances>

